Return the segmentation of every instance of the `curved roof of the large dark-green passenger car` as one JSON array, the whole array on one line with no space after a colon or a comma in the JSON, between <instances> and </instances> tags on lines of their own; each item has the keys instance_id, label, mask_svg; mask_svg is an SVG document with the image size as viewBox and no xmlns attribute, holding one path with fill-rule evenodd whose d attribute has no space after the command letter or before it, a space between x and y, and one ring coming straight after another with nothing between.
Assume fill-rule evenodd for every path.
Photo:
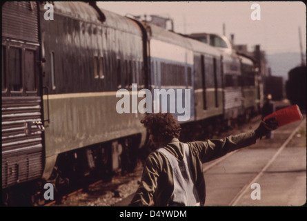
<instances>
[{"instance_id":1,"label":"curved roof of the large dark-green passenger car","mask_svg":"<svg viewBox=\"0 0 307 221\"><path fill-rule=\"evenodd\" d=\"M54 1L53 3L55 16L56 14L61 14L81 21L87 21L97 25L102 24L103 26L108 26L124 32L141 35L141 30L135 21L117 15L114 12L103 10L98 6L97 9L99 9L106 18L104 21L100 20L99 12L93 6L90 6L89 3L81 1Z\"/></svg>"}]
</instances>

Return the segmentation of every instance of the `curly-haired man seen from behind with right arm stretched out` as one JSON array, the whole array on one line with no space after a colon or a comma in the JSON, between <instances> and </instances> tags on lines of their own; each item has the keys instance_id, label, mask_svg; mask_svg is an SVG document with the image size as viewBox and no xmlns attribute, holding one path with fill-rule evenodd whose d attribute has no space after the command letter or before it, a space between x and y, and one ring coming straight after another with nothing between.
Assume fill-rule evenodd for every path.
<instances>
[{"instance_id":1,"label":"curly-haired man seen from behind with right arm stretched out","mask_svg":"<svg viewBox=\"0 0 307 221\"><path fill-rule=\"evenodd\" d=\"M181 131L170 113L149 114L141 120L154 144L143 168L141 184L130 206L204 205L206 186L202 164L238 148L255 144L258 138L277 128L275 119L261 122L255 131L206 142L179 141Z\"/></svg>"}]
</instances>

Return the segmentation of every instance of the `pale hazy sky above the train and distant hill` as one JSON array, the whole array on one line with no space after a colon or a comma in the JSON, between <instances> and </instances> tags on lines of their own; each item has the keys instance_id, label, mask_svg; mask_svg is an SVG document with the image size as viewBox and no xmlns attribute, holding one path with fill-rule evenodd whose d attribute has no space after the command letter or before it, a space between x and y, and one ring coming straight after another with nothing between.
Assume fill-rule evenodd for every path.
<instances>
[{"instance_id":1,"label":"pale hazy sky above the train and distant hill","mask_svg":"<svg viewBox=\"0 0 307 221\"><path fill-rule=\"evenodd\" d=\"M253 3L259 4L259 14ZM306 52L306 5L302 1L101 1L98 6L119 15L160 15L174 21L175 32L235 35L248 49L260 44L267 55L300 52L299 27ZM260 15L253 20L251 15Z\"/></svg>"}]
</instances>

